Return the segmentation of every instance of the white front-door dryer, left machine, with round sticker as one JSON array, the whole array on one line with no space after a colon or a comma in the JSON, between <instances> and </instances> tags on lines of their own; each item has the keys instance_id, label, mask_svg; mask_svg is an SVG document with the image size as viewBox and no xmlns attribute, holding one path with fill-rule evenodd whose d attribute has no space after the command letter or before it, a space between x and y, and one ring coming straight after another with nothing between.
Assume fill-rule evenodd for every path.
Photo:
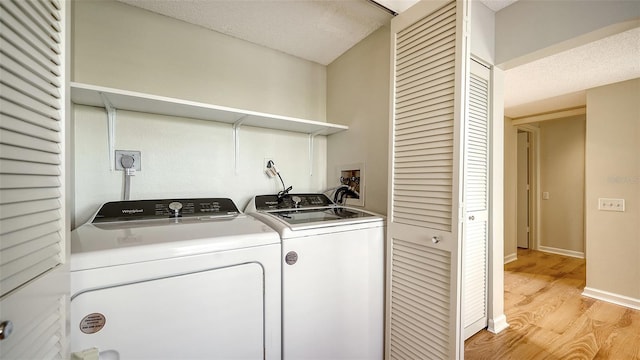
<instances>
[{"instance_id":1,"label":"white front-door dryer, left machine, with round sticker","mask_svg":"<svg viewBox=\"0 0 640 360\"><path fill-rule=\"evenodd\" d=\"M281 359L280 254L230 199L104 204L72 232L71 352Z\"/></svg>"}]
</instances>

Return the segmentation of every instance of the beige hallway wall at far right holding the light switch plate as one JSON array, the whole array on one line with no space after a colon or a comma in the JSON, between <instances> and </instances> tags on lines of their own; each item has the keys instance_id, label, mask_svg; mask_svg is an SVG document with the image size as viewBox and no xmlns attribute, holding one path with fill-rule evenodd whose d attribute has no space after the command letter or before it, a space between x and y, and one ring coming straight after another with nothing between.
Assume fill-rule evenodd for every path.
<instances>
[{"instance_id":1,"label":"beige hallway wall at far right holding the light switch plate","mask_svg":"<svg viewBox=\"0 0 640 360\"><path fill-rule=\"evenodd\" d=\"M640 79L587 91L585 207L587 288L640 308L638 99ZM598 198L625 199L626 210L599 211Z\"/></svg>"}]
</instances>

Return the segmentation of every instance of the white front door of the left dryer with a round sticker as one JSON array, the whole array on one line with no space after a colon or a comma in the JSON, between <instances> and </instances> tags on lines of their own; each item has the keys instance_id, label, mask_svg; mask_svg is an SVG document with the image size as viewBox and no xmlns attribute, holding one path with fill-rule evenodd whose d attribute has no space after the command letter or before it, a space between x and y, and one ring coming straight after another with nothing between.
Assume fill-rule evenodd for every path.
<instances>
[{"instance_id":1,"label":"white front door of the left dryer with a round sticker","mask_svg":"<svg viewBox=\"0 0 640 360\"><path fill-rule=\"evenodd\" d=\"M174 260L163 263L173 269ZM136 265L125 268L140 270ZM100 278L99 270L85 272L74 276ZM105 359L269 358L265 276L254 262L83 291L71 301L72 352L97 348Z\"/></svg>"}]
</instances>

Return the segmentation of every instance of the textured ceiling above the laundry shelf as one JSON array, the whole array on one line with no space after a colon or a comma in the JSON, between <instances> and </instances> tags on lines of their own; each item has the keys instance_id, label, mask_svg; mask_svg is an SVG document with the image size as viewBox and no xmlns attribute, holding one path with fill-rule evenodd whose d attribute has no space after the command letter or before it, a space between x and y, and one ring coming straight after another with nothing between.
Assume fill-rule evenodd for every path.
<instances>
[{"instance_id":1,"label":"textured ceiling above the laundry shelf","mask_svg":"<svg viewBox=\"0 0 640 360\"><path fill-rule=\"evenodd\" d=\"M327 65L392 15L367 0L119 0Z\"/></svg>"}]
</instances>

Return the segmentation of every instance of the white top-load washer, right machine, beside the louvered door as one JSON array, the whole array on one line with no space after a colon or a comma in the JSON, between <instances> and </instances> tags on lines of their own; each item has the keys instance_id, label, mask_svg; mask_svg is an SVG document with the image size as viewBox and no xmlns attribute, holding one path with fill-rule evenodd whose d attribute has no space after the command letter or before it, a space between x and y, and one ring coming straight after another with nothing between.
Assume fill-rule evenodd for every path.
<instances>
[{"instance_id":1,"label":"white top-load washer, right machine, beside the louvered door","mask_svg":"<svg viewBox=\"0 0 640 360\"><path fill-rule=\"evenodd\" d=\"M384 218L324 194L256 196L282 239L283 358L376 359L384 344Z\"/></svg>"}]
</instances>

